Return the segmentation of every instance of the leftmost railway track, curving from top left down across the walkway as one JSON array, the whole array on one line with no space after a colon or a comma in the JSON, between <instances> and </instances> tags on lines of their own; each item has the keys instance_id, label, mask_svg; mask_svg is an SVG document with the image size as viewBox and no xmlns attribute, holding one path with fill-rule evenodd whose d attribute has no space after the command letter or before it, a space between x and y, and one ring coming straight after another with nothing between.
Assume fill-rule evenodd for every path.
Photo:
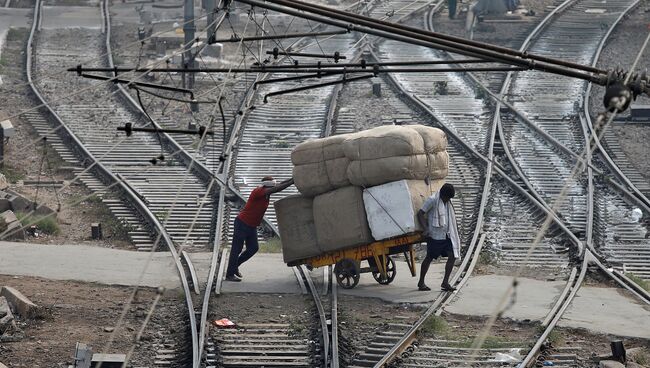
<instances>
[{"instance_id":1,"label":"leftmost railway track, curving from top left down across the walkway","mask_svg":"<svg viewBox=\"0 0 650 368\"><path fill-rule=\"evenodd\" d=\"M37 123L36 129L53 143L62 157L71 161L75 159L72 163L78 166L78 179L102 196L118 217L130 216L125 221L130 221L131 226L140 231L131 231L132 237L144 237L142 234L147 231L150 244L138 247L139 250L167 248L171 252L187 308L187 313L181 317L187 331L181 334L181 341L174 341L178 338L176 336L163 338L156 351L150 352L153 366L198 367L199 332L203 332L204 324L197 323L199 307L192 295L200 293L200 285L183 248L212 244L215 254L218 254L220 242L210 239L213 206L211 202L201 201L204 197L209 198L213 183L207 184L205 177L189 170L183 162L183 159L187 160L187 152L171 151L169 147L173 147L175 142L170 144L168 136L119 137L115 133L117 126L134 121L142 123L138 111L118 99L119 91L101 84L71 82L44 70L74 65L75 60L87 58L88 53L98 55L96 63L100 65L112 64L110 57L101 60L101 55L111 54L110 13L106 2L100 4L100 11L103 35L99 30L81 28L70 37L69 32L39 29L44 15L41 1L37 1L27 45L27 75L34 94L46 109L41 109L41 116L31 114L28 118ZM102 48L103 44L106 49ZM33 82L32 74L38 78L37 83ZM87 88L90 92L73 102L58 98L74 88ZM48 104L48 99L55 102ZM147 157L161 154L165 156L162 165L148 163ZM116 198L104 196L108 189L117 194ZM221 189L220 199L223 200L223 187ZM219 212L215 217L221 215ZM156 239L155 243L153 239ZM214 275L215 271L216 257L210 272ZM209 286L207 290L204 295L210 294Z\"/></svg>"}]
</instances>

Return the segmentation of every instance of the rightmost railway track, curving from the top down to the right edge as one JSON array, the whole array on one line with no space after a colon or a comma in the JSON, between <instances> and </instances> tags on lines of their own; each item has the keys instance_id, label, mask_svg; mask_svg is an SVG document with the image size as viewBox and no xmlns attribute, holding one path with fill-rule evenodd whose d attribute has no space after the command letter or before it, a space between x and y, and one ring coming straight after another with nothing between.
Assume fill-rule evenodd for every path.
<instances>
[{"instance_id":1,"label":"rightmost railway track, curving from the top down to the right edge","mask_svg":"<svg viewBox=\"0 0 650 368\"><path fill-rule=\"evenodd\" d=\"M571 4L556 20L554 27L538 37L528 50L546 55L554 53L561 58L591 64L611 32L611 26L602 24L616 24L622 14L636 4L635 1L608 2L606 6L588 1ZM594 9L604 11L598 17L600 24L581 21L585 18L585 13L588 14ZM572 37L565 37L566 35ZM548 94L549 85L560 91L563 101L558 101L555 97L557 94ZM569 150L583 152L589 130L578 107L585 106L582 103L587 95L586 88L586 83L575 83L566 78L541 78L536 72L516 73L508 93L509 96L536 96L535 101L526 97L510 97L509 100L520 114L528 116L529 121L540 130L551 135ZM516 118L512 114L502 114L504 137L509 142L507 148L534 189L550 204L551 198L559 195L565 180L571 180L566 199L557 205L558 212L563 215L568 225L574 232L582 234L583 239L587 239L587 234L593 233L593 241L603 245L599 253L606 259L609 258L612 265L619 270L623 270L625 262L629 262L635 272L647 275L647 259L644 259L642 254L643 248L650 246L650 243L643 237L644 226L631 220L625 224L623 219L624 214L631 213L634 208L629 199L609 188L603 181L597 182L594 187L591 169L577 179L569 178L573 167L572 160L558 152L557 147L549 144L547 140L531 134L531 130L516 121ZM549 162L550 165L539 167L530 164L539 157L543 157L543 161ZM587 177L588 175L591 177ZM624 175L621 177L625 178ZM611 203L611 206L608 208L605 203ZM597 221L596 227L592 227L593 221ZM604 236L605 234L609 235ZM620 241L621 238L624 240ZM587 241L591 242L591 237ZM607 245L604 245L605 243ZM621 253L612 257L615 249L620 249Z\"/></svg>"}]
</instances>

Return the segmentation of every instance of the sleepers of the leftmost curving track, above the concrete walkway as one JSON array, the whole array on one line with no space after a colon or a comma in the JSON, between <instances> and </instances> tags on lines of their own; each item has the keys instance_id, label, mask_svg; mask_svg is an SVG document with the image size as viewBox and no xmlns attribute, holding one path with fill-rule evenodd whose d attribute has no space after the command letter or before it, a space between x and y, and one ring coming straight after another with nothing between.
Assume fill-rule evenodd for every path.
<instances>
[{"instance_id":1,"label":"sleepers of the leftmost curving track, above the concrete walkway","mask_svg":"<svg viewBox=\"0 0 650 368\"><path fill-rule=\"evenodd\" d=\"M103 55L104 37L99 29L81 29L75 33L46 29L37 34L35 41L37 47L34 52L33 73L38 80L36 88L41 91L45 99L64 94L70 89L94 86L92 82L71 81L60 75L53 76L47 71L75 65L80 58L86 58L89 53ZM137 121L140 124L148 122L143 121L143 116L134 111L131 106L123 104L113 93L114 91L105 87L93 88L92 93L80 96L75 101L52 103L52 109L65 125L66 132L74 135L78 144L83 145L97 162L102 163L107 170L128 185L159 220L166 222L166 230L176 244L207 245L210 242L210 225L214 207L212 203L199 204L198 199L203 198L208 191L204 179L193 173L188 175L188 168L180 162L179 155L163 147L157 137L134 135L124 139L118 135L115 129L127 122ZM51 127L43 125L31 115L27 115L27 118L35 123L41 133L47 134L48 130L51 130ZM70 157L70 152L65 146L56 142L57 137L52 137L50 134L46 136L50 141L55 142L54 148L60 150L63 157ZM63 137L63 139L69 138ZM164 155L165 161L152 165L149 161L159 155ZM82 173L83 166L79 163L84 159L86 157L78 156L75 164L79 168L75 173L81 174L80 179L91 189L102 189L100 182ZM129 228L135 229L129 235L139 250L151 249L153 239L146 239L142 224L134 221L139 214L125 213L121 201L107 200L105 204L118 219L126 221ZM195 220L194 215L197 213Z\"/></svg>"}]
</instances>

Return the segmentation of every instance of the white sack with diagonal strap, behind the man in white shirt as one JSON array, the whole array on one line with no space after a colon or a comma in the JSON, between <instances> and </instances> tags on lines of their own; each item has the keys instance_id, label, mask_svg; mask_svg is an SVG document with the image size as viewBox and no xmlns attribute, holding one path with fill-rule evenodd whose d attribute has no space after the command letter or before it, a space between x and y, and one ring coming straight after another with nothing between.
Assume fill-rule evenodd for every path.
<instances>
[{"instance_id":1,"label":"white sack with diagonal strap, behind the man in white shirt","mask_svg":"<svg viewBox=\"0 0 650 368\"><path fill-rule=\"evenodd\" d=\"M444 180L399 180L363 191L368 226L376 240L422 231L417 213Z\"/></svg>"}]
</instances>

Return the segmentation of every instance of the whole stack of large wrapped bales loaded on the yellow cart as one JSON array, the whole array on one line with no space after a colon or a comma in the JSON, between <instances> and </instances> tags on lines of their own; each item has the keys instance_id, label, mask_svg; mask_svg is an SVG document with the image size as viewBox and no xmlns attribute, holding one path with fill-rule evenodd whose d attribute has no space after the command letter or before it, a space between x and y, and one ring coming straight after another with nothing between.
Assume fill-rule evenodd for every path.
<instances>
[{"instance_id":1,"label":"whole stack of large wrapped bales loaded on the yellow cart","mask_svg":"<svg viewBox=\"0 0 650 368\"><path fill-rule=\"evenodd\" d=\"M446 149L445 133L423 125L382 126L296 146L291 153L293 178L302 196L276 202L285 262L404 233L395 228L371 232L368 224L366 209L374 211L377 224L386 218L364 203L364 190L386 183L407 180L374 193L395 196L388 201L391 211L404 201L402 212L408 215L400 221L408 222L409 231L420 230L415 213L447 176ZM431 181L425 184L425 179Z\"/></svg>"}]
</instances>

